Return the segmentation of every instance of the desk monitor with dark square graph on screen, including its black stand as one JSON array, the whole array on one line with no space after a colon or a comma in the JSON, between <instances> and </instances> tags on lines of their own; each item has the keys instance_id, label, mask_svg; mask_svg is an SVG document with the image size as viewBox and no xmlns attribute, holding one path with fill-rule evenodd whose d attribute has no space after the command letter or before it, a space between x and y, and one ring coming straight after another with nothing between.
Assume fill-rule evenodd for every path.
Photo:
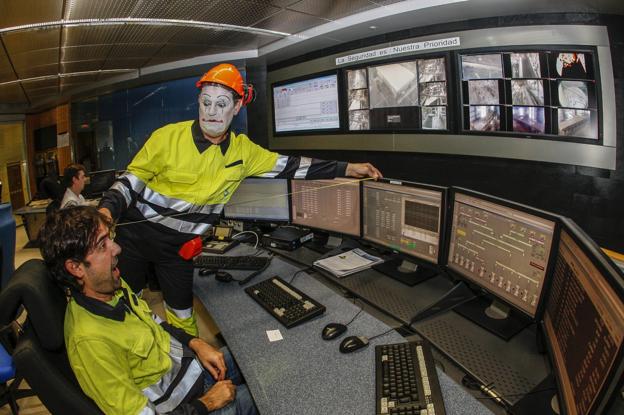
<instances>
[{"instance_id":1,"label":"desk monitor with dark square graph on screen, including its black stand","mask_svg":"<svg viewBox=\"0 0 624 415\"><path fill-rule=\"evenodd\" d=\"M412 258L439 264L446 188L398 180L364 182L362 237L404 254L375 269L408 285L436 275Z\"/></svg>"}]
</instances>

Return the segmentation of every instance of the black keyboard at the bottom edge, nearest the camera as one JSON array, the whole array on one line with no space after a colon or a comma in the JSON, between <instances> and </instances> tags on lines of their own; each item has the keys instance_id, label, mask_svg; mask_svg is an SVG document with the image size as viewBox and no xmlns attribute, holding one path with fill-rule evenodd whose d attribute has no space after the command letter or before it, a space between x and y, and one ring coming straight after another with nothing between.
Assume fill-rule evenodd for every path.
<instances>
[{"instance_id":1,"label":"black keyboard at the bottom edge, nearest the camera","mask_svg":"<svg viewBox=\"0 0 624 415\"><path fill-rule=\"evenodd\" d=\"M424 342L375 347L378 415L444 415L433 356Z\"/></svg>"}]
</instances>

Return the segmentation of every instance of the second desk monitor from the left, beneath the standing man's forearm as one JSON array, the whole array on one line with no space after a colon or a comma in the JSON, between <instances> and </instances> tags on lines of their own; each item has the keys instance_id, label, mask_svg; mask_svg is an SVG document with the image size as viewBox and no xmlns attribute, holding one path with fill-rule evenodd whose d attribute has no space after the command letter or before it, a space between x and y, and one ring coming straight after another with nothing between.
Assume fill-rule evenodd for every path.
<instances>
[{"instance_id":1,"label":"second desk monitor from the left, beneath the standing man's forearm","mask_svg":"<svg viewBox=\"0 0 624 415\"><path fill-rule=\"evenodd\" d=\"M291 180L290 188L293 224L360 236L358 180Z\"/></svg>"}]
</instances>

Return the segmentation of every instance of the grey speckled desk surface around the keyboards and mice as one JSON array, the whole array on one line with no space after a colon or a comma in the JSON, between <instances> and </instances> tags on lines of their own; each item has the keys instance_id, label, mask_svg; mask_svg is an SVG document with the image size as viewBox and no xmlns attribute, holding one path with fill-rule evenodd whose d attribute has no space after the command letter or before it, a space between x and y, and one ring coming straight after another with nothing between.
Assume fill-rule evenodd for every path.
<instances>
[{"instance_id":1,"label":"grey speckled desk surface around the keyboards and mice","mask_svg":"<svg viewBox=\"0 0 624 415\"><path fill-rule=\"evenodd\" d=\"M239 245L230 255L253 252ZM274 257L271 266L247 286L273 275L290 281L299 268ZM249 271L230 271L242 278ZM321 339L330 322L348 322L359 308L330 288L300 273L293 285L310 295L327 311L297 327L286 329L237 282L217 282L213 276L195 274L194 289L215 319L247 380L261 414L372 414L375 412L375 346L404 341L396 331L371 341L369 347L351 354L338 351L340 340ZM372 337L390 327L366 312L349 325L347 335ZM269 342L267 330L279 329L283 340ZM492 412L438 370L446 413L492 414Z\"/></svg>"}]
</instances>

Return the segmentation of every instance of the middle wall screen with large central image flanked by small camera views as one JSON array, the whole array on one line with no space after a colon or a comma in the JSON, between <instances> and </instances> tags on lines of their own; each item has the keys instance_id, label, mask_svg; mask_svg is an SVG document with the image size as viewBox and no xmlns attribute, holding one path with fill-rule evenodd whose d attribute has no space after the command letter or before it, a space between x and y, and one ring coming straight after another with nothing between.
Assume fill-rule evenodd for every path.
<instances>
[{"instance_id":1,"label":"middle wall screen with large central image flanked by small camera views","mask_svg":"<svg viewBox=\"0 0 624 415\"><path fill-rule=\"evenodd\" d=\"M347 70L347 87L350 131L447 129L444 57Z\"/></svg>"}]
</instances>

